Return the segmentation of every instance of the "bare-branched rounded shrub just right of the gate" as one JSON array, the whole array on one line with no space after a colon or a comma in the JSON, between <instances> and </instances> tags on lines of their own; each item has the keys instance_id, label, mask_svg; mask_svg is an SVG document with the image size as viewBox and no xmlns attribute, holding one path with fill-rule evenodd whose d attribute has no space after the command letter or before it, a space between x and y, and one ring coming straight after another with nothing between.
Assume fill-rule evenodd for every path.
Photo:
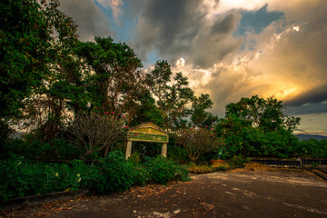
<instances>
[{"instance_id":1,"label":"bare-branched rounded shrub just right of the gate","mask_svg":"<svg viewBox=\"0 0 327 218\"><path fill-rule=\"evenodd\" d=\"M202 154L213 151L223 144L222 140L205 128L178 131L177 143L183 145L192 162L196 162Z\"/></svg>"}]
</instances>

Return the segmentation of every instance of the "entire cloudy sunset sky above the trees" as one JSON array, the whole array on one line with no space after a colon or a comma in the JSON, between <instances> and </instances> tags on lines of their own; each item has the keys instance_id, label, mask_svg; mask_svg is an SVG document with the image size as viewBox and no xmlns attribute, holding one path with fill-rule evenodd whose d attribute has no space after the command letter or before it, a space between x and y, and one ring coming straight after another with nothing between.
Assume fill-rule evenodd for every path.
<instances>
[{"instance_id":1,"label":"entire cloudy sunset sky above the trees","mask_svg":"<svg viewBox=\"0 0 327 218\"><path fill-rule=\"evenodd\" d=\"M327 1L60 0L82 41L130 45L144 69L167 60L210 94L211 112L272 95L299 128L327 136Z\"/></svg>"}]
</instances>

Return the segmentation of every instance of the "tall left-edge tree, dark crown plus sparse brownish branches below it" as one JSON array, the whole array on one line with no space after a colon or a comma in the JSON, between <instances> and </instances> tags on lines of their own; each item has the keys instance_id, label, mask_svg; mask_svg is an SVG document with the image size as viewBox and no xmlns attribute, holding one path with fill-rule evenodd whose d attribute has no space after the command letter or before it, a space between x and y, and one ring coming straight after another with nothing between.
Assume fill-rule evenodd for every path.
<instances>
[{"instance_id":1,"label":"tall left-edge tree, dark crown plus sparse brownish branches below it","mask_svg":"<svg viewBox=\"0 0 327 218\"><path fill-rule=\"evenodd\" d=\"M61 126L64 98L57 90L69 93L63 81L72 77L65 74L70 74L67 65L78 38L74 21L58 6L57 0L0 5L0 116L19 115L25 127L43 127L45 138Z\"/></svg>"}]
</instances>

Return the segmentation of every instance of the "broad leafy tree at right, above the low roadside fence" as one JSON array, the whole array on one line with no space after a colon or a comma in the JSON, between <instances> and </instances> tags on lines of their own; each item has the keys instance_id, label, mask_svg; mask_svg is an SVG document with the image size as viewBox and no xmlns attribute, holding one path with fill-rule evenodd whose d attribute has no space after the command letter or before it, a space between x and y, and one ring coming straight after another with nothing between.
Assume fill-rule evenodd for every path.
<instances>
[{"instance_id":1,"label":"broad leafy tree at right, above the low roadside fence","mask_svg":"<svg viewBox=\"0 0 327 218\"><path fill-rule=\"evenodd\" d=\"M296 144L292 131L300 118L289 117L282 101L270 97L242 98L226 106L226 117L216 125L216 133L226 140L224 154L244 156L292 157Z\"/></svg>"}]
</instances>

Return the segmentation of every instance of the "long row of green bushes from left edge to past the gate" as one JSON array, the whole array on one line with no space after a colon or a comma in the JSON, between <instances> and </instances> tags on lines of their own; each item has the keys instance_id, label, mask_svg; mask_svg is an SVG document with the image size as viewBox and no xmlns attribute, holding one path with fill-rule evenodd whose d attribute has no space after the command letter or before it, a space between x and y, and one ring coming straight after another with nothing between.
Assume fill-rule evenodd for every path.
<instances>
[{"instance_id":1,"label":"long row of green bushes from left edge to past the gate","mask_svg":"<svg viewBox=\"0 0 327 218\"><path fill-rule=\"evenodd\" d=\"M33 162L11 155L0 162L1 200L77 189L98 194L124 192L132 185L189 179L187 170L173 161L161 156L146 159L145 163L126 162L124 154L114 152L93 164L66 164Z\"/></svg>"}]
</instances>

